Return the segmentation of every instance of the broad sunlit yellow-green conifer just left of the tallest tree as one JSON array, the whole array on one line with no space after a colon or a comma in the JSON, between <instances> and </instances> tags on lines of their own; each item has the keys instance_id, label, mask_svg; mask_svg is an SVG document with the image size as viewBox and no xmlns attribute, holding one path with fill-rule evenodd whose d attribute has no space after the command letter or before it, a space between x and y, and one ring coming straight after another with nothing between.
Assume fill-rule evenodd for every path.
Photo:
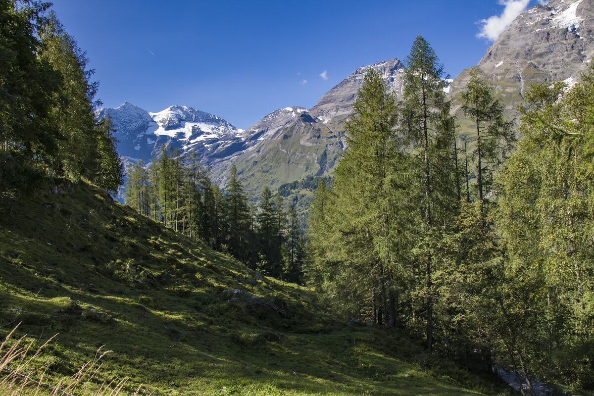
<instances>
[{"instance_id":1,"label":"broad sunlit yellow-green conifer just left of the tallest tree","mask_svg":"<svg viewBox=\"0 0 594 396\"><path fill-rule=\"evenodd\" d=\"M307 270L346 315L364 315L377 300L381 315L374 319L392 327L411 226L408 156L396 121L393 94L369 69L346 124L348 148L333 188L318 184L312 203L308 238L314 259Z\"/></svg>"}]
</instances>

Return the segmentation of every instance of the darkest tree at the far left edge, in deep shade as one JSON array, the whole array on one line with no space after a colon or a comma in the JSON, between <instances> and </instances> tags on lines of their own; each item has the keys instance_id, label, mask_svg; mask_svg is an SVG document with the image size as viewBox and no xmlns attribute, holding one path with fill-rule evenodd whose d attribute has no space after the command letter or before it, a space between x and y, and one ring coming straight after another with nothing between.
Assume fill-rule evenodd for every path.
<instances>
[{"instance_id":1,"label":"darkest tree at the far left edge, in deep shade","mask_svg":"<svg viewBox=\"0 0 594 396\"><path fill-rule=\"evenodd\" d=\"M0 2L0 191L28 189L58 152L50 112L61 80L47 59L37 56L48 7Z\"/></svg>"}]
</instances>

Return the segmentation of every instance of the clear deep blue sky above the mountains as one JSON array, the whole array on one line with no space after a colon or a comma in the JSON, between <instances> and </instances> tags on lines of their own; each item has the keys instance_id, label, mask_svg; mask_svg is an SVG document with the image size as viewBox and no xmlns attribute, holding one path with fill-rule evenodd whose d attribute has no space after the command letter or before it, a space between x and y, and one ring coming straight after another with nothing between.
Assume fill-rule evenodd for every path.
<instances>
[{"instance_id":1,"label":"clear deep blue sky above the mountains","mask_svg":"<svg viewBox=\"0 0 594 396\"><path fill-rule=\"evenodd\" d=\"M54 0L53 9L87 51L103 106L182 104L246 129L282 107L311 108L359 66L404 59L419 34L456 77L537 2Z\"/></svg>"}]
</instances>

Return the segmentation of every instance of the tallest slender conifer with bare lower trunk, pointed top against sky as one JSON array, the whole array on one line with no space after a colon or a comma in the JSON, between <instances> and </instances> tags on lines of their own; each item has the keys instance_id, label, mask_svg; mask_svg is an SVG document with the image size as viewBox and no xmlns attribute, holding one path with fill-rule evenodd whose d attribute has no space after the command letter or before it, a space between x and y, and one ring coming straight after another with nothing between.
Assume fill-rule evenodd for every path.
<instances>
[{"instance_id":1,"label":"tallest slender conifer with bare lower trunk, pointed top against sky","mask_svg":"<svg viewBox=\"0 0 594 396\"><path fill-rule=\"evenodd\" d=\"M455 173L451 155L454 134L451 131L450 103L445 97L443 65L434 49L421 36L416 37L405 61L405 85L402 100L400 128L413 153L419 154L422 162L421 212L424 220L424 236L418 256L425 263L424 291L426 316L426 348L433 346L434 287L432 272L435 239L434 226L443 223L453 213L451 202L456 201L456 184L450 176Z\"/></svg>"}]
</instances>

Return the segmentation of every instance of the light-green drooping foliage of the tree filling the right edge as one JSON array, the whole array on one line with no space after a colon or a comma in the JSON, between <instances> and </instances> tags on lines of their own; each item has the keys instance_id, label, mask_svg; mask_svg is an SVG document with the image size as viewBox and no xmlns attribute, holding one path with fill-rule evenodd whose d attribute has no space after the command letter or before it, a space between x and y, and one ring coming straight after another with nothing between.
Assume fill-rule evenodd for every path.
<instances>
[{"instance_id":1,"label":"light-green drooping foliage of the tree filling the right edge","mask_svg":"<svg viewBox=\"0 0 594 396\"><path fill-rule=\"evenodd\" d=\"M524 368L541 378L591 389L594 68L566 90L547 83L526 93L519 107L524 138L497 178L497 226L508 248L507 277L523 286L511 306L539 319L516 320L514 366L521 355Z\"/></svg>"}]
</instances>

